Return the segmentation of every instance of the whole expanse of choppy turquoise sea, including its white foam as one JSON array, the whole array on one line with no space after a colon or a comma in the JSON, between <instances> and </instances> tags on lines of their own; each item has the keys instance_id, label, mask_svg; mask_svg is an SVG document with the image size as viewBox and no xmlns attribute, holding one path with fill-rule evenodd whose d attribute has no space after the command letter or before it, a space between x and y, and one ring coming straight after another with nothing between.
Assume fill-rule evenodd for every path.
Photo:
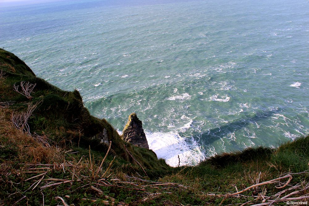
<instances>
[{"instance_id":1,"label":"whole expanse of choppy turquoise sea, including its white foam","mask_svg":"<svg viewBox=\"0 0 309 206\"><path fill-rule=\"evenodd\" d=\"M170 165L309 133L309 2L0 3L0 47Z\"/></svg>"}]
</instances>

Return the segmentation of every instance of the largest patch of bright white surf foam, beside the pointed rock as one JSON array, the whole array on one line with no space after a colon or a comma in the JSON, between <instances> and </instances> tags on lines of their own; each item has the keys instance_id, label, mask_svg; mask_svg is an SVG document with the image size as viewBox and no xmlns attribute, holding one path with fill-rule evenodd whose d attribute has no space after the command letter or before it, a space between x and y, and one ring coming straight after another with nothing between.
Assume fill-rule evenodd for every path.
<instances>
[{"instance_id":1,"label":"largest patch of bright white surf foam, beside the pointed rock","mask_svg":"<svg viewBox=\"0 0 309 206\"><path fill-rule=\"evenodd\" d=\"M165 159L170 166L195 165L205 159L205 154L197 142L188 143L177 132L145 132L149 149L153 150L158 158Z\"/></svg>"}]
</instances>

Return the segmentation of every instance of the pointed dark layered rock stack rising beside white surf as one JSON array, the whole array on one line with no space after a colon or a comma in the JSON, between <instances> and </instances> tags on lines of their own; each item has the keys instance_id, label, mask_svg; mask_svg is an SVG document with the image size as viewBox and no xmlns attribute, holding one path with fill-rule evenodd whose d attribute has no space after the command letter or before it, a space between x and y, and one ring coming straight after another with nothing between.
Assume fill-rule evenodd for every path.
<instances>
[{"instance_id":1,"label":"pointed dark layered rock stack rising beside white surf","mask_svg":"<svg viewBox=\"0 0 309 206\"><path fill-rule=\"evenodd\" d=\"M135 113L129 115L128 123L123 129L123 140L135 146L149 149L142 121L138 119Z\"/></svg>"}]
</instances>

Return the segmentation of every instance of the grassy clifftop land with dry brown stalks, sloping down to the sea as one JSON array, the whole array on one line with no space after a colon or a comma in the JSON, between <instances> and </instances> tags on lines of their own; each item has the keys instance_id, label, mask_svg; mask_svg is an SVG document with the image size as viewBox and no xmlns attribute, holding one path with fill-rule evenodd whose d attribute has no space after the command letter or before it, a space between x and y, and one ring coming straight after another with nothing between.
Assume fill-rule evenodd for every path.
<instances>
[{"instance_id":1,"label":"grassy clifftop land with dry brown stalks, sloping down to the sea","mask_svg":"<svg viewBox=\"0 0 309 206\"><path fill-rule=\"evenodd\" d=\"M0 49L0 205L286 205L308 201L308 169L309 136L169 167Z\"/></svg>"}]
</instances>

